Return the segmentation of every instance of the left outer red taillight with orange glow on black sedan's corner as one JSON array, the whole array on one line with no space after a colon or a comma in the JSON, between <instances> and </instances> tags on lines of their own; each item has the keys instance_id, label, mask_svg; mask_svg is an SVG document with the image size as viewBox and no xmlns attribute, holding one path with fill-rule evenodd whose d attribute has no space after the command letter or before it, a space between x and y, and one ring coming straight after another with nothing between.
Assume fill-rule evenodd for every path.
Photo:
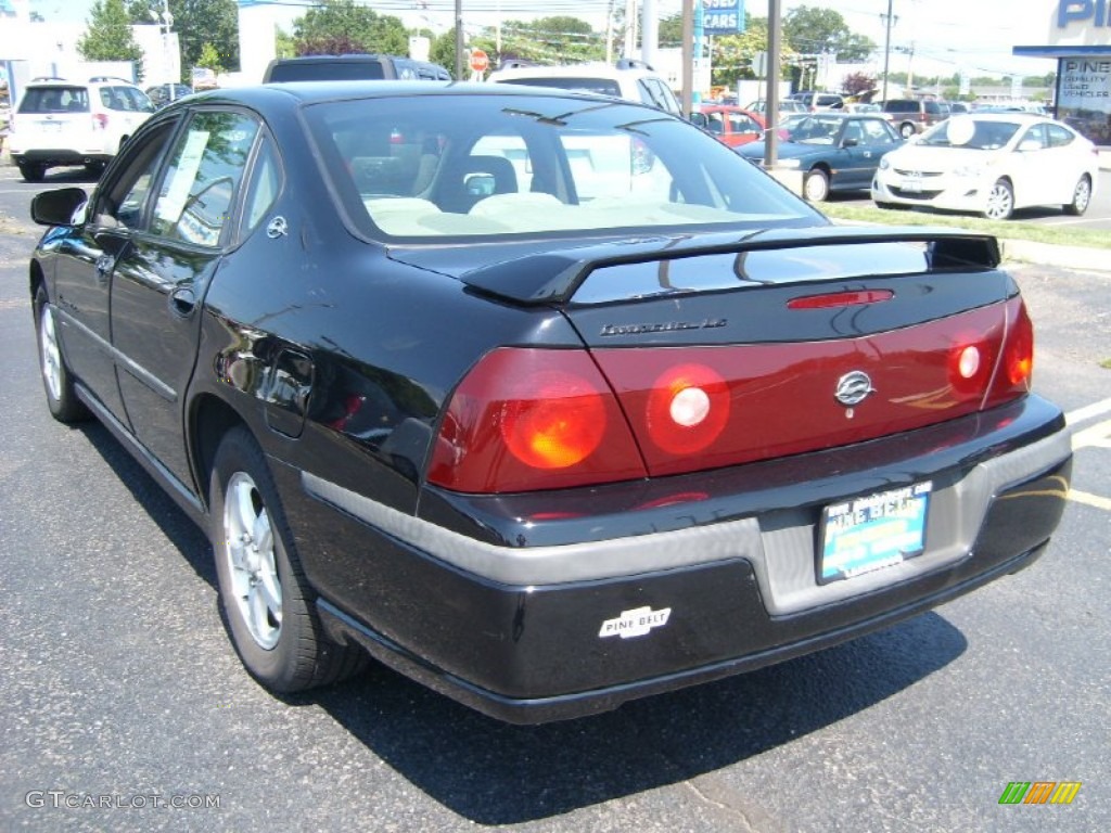
<instances>
[{"instance_id":1,"label":"left outer red taillight with orange glow on black sedan's corner","mask_svg":"<svg viewBox=\"0 0 1111 833\"><path fill-rule=\"evenodd\" d=\"M523 492L645 476L590 355L503 348L488 353L448 405L430 482L460 492Z\"/></svg>"}]
</instances>

